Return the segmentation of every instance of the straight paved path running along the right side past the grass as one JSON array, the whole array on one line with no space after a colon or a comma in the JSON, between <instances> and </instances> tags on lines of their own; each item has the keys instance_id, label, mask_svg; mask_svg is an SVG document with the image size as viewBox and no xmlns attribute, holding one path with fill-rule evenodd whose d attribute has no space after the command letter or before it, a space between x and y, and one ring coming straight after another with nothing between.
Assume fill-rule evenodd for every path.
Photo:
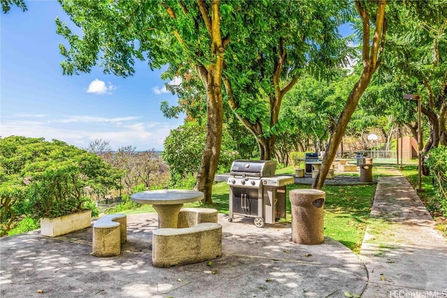
<instances>
[{"instance_id":1,"label":"straight paved path running along the right side past the grass","mask_svg":"<svg viewBox=\"0 0 447 298\"><path fill-rule=\"evenodd\" d=\"M411 184L379 180L360 249L369 281L362 297L447 297L447 239Z\"/></svg>"}]
</instances>

